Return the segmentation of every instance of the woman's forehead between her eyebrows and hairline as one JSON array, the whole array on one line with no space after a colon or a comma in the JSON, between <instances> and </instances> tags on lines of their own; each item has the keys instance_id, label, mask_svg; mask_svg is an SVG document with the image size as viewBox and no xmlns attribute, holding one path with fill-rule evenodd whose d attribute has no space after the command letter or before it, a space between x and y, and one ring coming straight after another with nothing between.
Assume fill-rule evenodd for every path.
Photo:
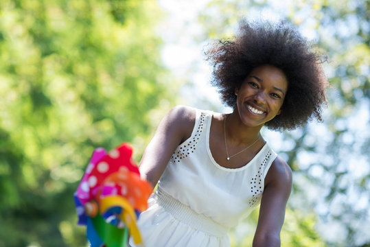
<instances>
[{"instance_id":1,"label":"woman's forehead between her eyebrows and hairline","mask_svg":"<svg viewBox=\"0 0 370 247\"><path fill-rule=\"evenodd\" d=\"M281 69L270 64L255 67L247 76L247 78L251 77L264 82L264 84L277 86L284 91L288 89L288 80L286 79L285 73L281 71Z\"/></svg>"}]
</instances>

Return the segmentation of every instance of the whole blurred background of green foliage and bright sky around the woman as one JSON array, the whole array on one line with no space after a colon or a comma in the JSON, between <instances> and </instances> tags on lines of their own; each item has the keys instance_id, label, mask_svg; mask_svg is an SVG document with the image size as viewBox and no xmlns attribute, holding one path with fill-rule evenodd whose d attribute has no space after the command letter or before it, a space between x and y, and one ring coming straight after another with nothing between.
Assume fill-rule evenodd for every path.
<instances>
[{"instance_id":1,"label":"whole blurred background of green foliage and bright sky around the woman","mask_svg":"<svg viewBox=\"0 0 370 247\"><path fill-rule=\"evenodd\" d=\"M281 245L370 246L369 1L1 0L0 247L87 246L73 192L93 149L139 162L172 106L229 111L203 51L242 18L288 19L328 56L324 122L264 130L294 173Z\"/></svg>"}]
</instances>

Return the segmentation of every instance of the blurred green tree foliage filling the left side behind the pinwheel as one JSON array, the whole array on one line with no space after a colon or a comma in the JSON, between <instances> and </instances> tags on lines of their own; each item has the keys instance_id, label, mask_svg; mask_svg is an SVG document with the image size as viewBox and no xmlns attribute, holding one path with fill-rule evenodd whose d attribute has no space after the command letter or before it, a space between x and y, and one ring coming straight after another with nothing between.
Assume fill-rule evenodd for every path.
<instances>
[{"instance_id":1,"label":"blurred green tree foliage filling the left side behind the pinwheel","mask_svg":"<svg viewBox=\"0 0 370 247\"><path fill-rule=\"evenodd\" d=\"M76 190L93 148L140 155L176 90L155 1L0 2L0 246L85 246Z\"/></svg>"}]
</instances>

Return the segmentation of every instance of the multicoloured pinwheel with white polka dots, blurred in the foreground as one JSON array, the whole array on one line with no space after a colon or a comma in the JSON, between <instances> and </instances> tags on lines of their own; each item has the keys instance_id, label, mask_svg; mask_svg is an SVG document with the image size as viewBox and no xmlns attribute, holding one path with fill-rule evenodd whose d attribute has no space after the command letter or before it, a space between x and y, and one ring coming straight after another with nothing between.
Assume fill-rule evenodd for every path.
<instances>
[{"instance_id":1,"label":"multicoloured pinwheel with white polka dots, blurred in the foreground","mask_svg":"<svg viewBox=\"0 0 370 247\"><path fill-rule=\"evenodd\" d=\"M143 244L136 221L152 187L140 179L131 156L127 143L108 154L97 148L74 194L78 224L86 225L91 247L125 247L128 235Z\"/></svg>"}]
</instances>

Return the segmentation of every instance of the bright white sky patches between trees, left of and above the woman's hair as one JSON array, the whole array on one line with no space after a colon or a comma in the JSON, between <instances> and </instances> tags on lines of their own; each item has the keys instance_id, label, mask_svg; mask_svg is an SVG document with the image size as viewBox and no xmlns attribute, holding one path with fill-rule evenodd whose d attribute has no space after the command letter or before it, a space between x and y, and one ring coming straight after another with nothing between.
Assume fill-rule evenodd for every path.
<instances>
[{"instance_id":1,"label":"bright white sky patches between trees, left of and above the woman's hair","mask_svg":"<svg viewBox=\"0 0 370 247\"><path fill-rule=\"evenodd\" d=\"M209 85L211 70L209 64L204 61L203 50L205 45L212 40L204 40L202 43L194 42L194 36L199 36L203 32L203 27L197 20L198 15L207 9L209 2L209 0L159 0L161 9L167 14L166 21L159 28L159 33L166 42L162 58L165 65L173 73L179 77L187 78L193 84L192 87L184 87L181 91L185 98L189 98L189 95L196 93L198 97L215 104L220 110L227 110L220 103L216 90ZM248 19L277 21L284 14L287 14L290 3L291 1L269 1L269 8L262 11L248 12ZM305 13L298 14L304 16ZM245 17L242 11L236 13L236 15L240 19ZM236 31L237 26L234 29ZM311 39L316 38L315 32L311 29L303 30L303 35ZM202 107L199 106L198 102L188 102L187 104Z\"/></svg>"}]
</instances>

